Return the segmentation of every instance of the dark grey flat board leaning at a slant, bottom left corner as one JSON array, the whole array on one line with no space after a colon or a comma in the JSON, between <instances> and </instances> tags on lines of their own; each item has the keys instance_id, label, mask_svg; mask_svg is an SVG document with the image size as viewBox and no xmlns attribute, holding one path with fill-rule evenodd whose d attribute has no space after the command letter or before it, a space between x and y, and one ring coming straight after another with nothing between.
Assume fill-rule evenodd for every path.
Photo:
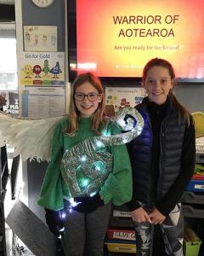
<instances>
[{"instance_id":1,"label":"dark grey flat board leaning at a slant, bottom left corner","mask_svg":"<svg viewBox=\"0 0 204 256\"><path fill-rule=\"evenodd\" d=\"M6 218L7 224L36 256L55 256L55 241L48 226L22 201L16 201Z\"/></svg>"}]
</instances>

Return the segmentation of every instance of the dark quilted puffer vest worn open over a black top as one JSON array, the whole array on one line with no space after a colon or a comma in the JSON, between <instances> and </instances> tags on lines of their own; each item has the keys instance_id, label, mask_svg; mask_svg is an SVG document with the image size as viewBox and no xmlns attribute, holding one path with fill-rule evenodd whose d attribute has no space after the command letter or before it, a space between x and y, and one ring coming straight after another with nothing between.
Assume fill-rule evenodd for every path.
<instances>
[{"instance_id":1,"label":"dark quilted puffer vest worn open over a black top","mask_svg":"<svg viewBox=\"0 0 204 256\"><path fill-rule=\"evenodd\" d=\"M127 144L133 168L133 200L151 204L150 201L150 162L152 131L147 113L147 98L135 108L144 116L144 129L139 137ZM178 123L178 109L171 102L167 116L161 123L159 179L157 182L157 200L161 200L178 177L181 166L182 146L185 122Z\"/></svg>"}]
</instances>

